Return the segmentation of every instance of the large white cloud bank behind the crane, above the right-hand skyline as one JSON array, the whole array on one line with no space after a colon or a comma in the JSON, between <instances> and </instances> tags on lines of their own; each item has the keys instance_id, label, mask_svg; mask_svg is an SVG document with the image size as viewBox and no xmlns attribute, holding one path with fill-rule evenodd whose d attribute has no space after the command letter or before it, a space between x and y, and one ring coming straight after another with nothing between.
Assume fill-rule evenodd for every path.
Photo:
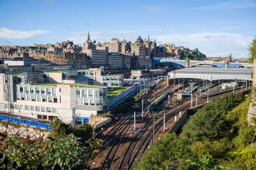
<instances>
[{"instance_id":1,"label":"large white cloud bank behind the crane, above the right-hand skyline","mask_svg":"<svg viewBox=\"0 0 256 170\"><path fill-rule=\"evenodd\" d=\"M236 58L247 57L248 45L253 37L230 33L198 33L198 34L168 34L167 39L176 46L198 48L199 51L210 56L226 56L232 53ZM156 37L161 43L166 43L163 36ZM180 43L182 42L182 43Z\"/></svg>"}]
</instances>

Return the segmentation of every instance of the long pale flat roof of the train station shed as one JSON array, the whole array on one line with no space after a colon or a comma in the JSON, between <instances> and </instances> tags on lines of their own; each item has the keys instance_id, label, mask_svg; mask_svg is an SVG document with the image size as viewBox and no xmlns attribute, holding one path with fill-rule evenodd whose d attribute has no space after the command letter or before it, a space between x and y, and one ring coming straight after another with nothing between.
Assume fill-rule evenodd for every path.
<instances>
[{"instance_id":1,"label":"long pale flat roof of the train station shed","mask_svg":"<svg viewBox=\"0 0 256 170\"><path fill-rule=\"evenodd\" d=\"M175 70L176 72L183 73L231 73L231 74L251 74L253 68L205 68L205 67L189 67L180 70ZM172 71L173 72L173 71Z\"/></svg>"}]
</instances>

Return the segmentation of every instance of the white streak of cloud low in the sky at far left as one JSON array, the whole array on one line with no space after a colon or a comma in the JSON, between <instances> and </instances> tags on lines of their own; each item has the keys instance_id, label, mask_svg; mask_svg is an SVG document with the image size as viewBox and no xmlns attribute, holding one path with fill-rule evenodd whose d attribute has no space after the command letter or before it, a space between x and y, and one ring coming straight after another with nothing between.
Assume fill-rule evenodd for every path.
<instances>
[{"instance_id":1,"label":"white streak of cloud low in the sky at far left","mask_svg":"<svg viewBox=\"0 0 256 170\"><path fill-rule=\"evenodd\" d=\"M35 37L43 34L48 34L47 30L33 30L33 31L22 31L22 30L11 30L8 28L0 28L0 38L6 39L24 39L28 37Z\"/></svg>"}]
</instances>

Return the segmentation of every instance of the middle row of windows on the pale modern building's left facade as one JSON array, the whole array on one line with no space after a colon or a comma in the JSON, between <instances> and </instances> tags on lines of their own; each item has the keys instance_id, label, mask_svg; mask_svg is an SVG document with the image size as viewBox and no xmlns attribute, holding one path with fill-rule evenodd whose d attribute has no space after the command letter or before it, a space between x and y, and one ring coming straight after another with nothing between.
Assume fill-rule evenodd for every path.
<instances>
[{"instance_id":1,"label":"middle row of windows on the pale modern building's left facade","mask_svg":"<svg viewBox=\"0 0 256 170\"><path fill-rule=\"evenodd\" d=\"M47 97L47 96L30 96L30 95L20 95L17 94L17 100L26 100L34 102L50 102L57 103L58 99L56 97Z\"/></svg>"}]
</instances>

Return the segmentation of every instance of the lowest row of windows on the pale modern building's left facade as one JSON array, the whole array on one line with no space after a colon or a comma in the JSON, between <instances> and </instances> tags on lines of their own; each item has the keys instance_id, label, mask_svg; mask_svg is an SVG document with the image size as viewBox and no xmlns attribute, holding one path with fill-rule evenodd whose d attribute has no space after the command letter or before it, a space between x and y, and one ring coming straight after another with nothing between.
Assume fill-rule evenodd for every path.
<instances>
[{"instance_id":1,"label":"lowest row of windows on the pale modern building's left facade","mask_svg":"<svg viewBox=\"0 0 256 170\"><path fill-rule=\"evenodd\" d=\"M4 108L9 108L7 103L4 104ZM40 111L40 112L49 112L49 113L57 113L56 108L52 107L44 107L44 106L31 106L31 105L10 105L11 109L18 109L21 111Z\"/></svg>"}]
</instances>

